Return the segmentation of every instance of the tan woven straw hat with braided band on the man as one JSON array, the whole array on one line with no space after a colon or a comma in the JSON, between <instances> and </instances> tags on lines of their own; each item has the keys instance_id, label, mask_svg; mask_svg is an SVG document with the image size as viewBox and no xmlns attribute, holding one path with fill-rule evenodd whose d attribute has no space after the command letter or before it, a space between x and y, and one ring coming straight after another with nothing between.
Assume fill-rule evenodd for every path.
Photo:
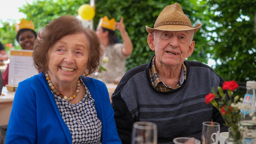
<instances>
[{"instance_id":1,"label":"tan woven straw hat with braided band on the man","mask_svg":"<svg viewBox=\"0 0 256 144\"><path fill-rule=\"evenodd\" d=\"M189 18L183 13L181 5L174 3L168 5L163 9L160 15L155 21L154 28L150 28L146 25L148 33L152 33L154 30L161 31L188 31L194 30L194 33L199 30L201 23L192 27Z\"/></svg>"}]
</instances>

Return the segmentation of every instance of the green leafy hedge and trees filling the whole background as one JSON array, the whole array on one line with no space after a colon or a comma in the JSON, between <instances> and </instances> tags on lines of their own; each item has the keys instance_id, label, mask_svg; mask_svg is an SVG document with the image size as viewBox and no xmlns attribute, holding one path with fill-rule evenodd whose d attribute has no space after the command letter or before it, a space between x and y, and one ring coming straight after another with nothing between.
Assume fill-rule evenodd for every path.
<instances>
[{"instance_id":1,"label":"green leafy hedge and trees filling the whole background","mask_svg":"<svg viewBox=\"0 0 256 144\"><path fill-rule=\"evenodd\" d=\"M153 27L161 11L175 2L181 4L193 26L202 23L201 29L195 33L195 50L188 60L207 63L212 58L218 62L213 66L216 67L215 71L225 80L255 80L256 0L95 0L93 27L96 28L99 19L105 15L115 18L116 21L124 17L134 48L131 57L126 61L129 70L149 62L154 51L147 44L148 33L145 26ZM35 31L38 32L61 15L77 16L78 8L85 3L90 1L37 0L32 4L27 3L19 11L27 15L27 20L33 21ZM243 16L249 17L249 20ZM239 17L241 21L237 20ZM0 28L1 42L15 45L14 26L7 24L5 27L5 30ZM7 30L8 27L10 31ZM121 39L119 31L116 32Z\"/></svg>"}]
</instances>

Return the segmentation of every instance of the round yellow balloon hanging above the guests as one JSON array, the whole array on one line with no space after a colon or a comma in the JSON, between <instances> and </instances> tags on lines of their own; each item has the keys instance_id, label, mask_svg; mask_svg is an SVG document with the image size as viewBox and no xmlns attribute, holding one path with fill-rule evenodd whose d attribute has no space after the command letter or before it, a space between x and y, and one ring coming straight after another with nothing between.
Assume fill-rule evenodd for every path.
<instances>
[{"instance_id":1,"label":"round yellow balloon hanging above the guests","mask_svg":"<svg viewBox=\"0 0 256 144\"><path fill-rule=\"evenodd\" d=\"M84 20L93 19L95 16L95 9L89 4L83 4L78 9L78 15Z\"/></svg>"}]
</instances>

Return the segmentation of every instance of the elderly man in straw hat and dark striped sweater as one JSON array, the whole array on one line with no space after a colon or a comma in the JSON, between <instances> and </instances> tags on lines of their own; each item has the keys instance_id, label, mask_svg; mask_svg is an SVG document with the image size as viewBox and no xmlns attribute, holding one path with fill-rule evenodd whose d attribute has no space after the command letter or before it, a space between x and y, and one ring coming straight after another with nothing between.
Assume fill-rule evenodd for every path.
<instances>
[{"instance_id":1,"label":"elderly man in straw hat and dark striped sweater","mask_svg":"<svg viewBox=\"0 0 256 144\"><path fill-rule=\"evenodd\" d=\"M211 67L187 61L201 24L192 27L178 3L163 9L154 28L146 26L147 42L155 54L150 62L129 70L112 95L117 131L123 144L131 143L135 121L157 124L158 143L172 143L175 137L201 140L202 123L223 119L205 96L224 80Z\"/></svg>"}]
</instances>

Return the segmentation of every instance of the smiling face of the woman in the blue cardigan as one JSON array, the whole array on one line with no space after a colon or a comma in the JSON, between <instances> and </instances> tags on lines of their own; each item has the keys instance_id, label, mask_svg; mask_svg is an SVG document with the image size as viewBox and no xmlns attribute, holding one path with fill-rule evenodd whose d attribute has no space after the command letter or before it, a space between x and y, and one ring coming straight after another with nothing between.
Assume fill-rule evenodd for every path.
<instances>
[{"instance_id":1,"label":"smiling face of the woman in the blue cardigan","mask_svg":"<svg viewBox=\"0 0 256 144\"><path fill-rule=\"evenodd\" d=\"M48 51L48 73L57 82L77 81L87 69L89 42L84 33L66 35Z\"/></svg>"}]
</instances>

